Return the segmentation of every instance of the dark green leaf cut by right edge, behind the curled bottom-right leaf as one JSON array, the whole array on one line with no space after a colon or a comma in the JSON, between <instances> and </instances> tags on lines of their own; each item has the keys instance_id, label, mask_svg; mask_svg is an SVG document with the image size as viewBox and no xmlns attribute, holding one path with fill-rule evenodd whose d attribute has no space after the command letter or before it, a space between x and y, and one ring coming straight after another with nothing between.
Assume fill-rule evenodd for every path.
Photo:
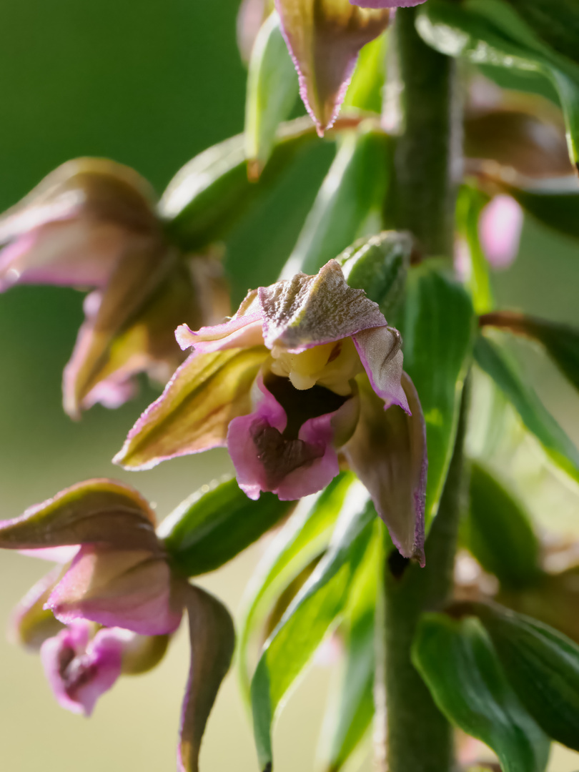
<instances>
[{"instance_id":1,"label":"dark green leaf cut by right edge, behind the curled bottom-right leaf","mask_svg":"<svg viewBox=\"0 0 579 772\"><path fill-rule=\"evenodd\" d=\"M473 606L531 716L557 743L579 750L579 646L536 619Z\"/></svg>"}]
</instances>

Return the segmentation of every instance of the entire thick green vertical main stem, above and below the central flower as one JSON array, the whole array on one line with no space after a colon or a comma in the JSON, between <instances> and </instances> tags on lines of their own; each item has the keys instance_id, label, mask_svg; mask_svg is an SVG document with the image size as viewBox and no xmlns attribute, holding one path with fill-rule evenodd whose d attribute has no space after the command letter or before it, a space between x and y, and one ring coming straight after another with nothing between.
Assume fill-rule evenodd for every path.
<instances>
[{"instance_id":1,"label":"entire thick green vertical main stem, above and below the central flower","mask_svg":"<svg viewBox=\"0 0 579 772\"><path fill-rule=\"evenodd\" d=\"M395 25L403 131L394 156L394 225L410 230L426 255L450 259L455 216L452 170L460 124L453 104L455 65L422 42L415 16L414 8L399 9ZM454 765L452 728L411 663L411 644L423 611L441 606L452 592L465 423L466 394L449 475L426 542L426 567L409 564L396 578L388 555L384 565L382 645L388 706L384 766L389 772L449 772Z\"/></svg>"}]
</instances>

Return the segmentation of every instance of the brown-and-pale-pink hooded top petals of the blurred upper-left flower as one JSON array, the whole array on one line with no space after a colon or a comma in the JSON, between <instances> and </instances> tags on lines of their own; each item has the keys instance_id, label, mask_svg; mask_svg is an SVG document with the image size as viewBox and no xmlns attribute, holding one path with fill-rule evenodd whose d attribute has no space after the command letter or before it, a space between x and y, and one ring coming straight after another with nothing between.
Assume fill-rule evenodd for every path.
<instances>
[{"instance_id":1,"label":"brown-and-pale-pink hooded top petals of the blurred upper-left flower","mask_svg":"<svg viewBox=\"0 0 579 772\"><path fill-rule=\"evenodd\" d=\"M114 161L78 158L0 217L0 291L13 283L103 286L130 242L159 238L151 188Z\"/></svg>"}]
</instances>

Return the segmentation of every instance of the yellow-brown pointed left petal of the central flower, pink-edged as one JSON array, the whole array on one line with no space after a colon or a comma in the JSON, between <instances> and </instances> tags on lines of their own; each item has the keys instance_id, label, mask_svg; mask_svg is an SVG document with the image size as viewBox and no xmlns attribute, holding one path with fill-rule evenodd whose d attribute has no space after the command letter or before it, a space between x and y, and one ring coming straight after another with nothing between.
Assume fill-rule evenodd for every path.
<instances>
[{"instance_id":1,"label":"yellow-brown pointed left petal of the central flower, pink-edged","mask_svg":"<svg viewBox=\"0 0 579 772\"><path fill-rule=\"evenodd\" d=\"M225 445L232 418L251 410L249 390L265 347L191 354L144 411L113 462L151 469L178 455Z\"/></svg>"}]
</instances>

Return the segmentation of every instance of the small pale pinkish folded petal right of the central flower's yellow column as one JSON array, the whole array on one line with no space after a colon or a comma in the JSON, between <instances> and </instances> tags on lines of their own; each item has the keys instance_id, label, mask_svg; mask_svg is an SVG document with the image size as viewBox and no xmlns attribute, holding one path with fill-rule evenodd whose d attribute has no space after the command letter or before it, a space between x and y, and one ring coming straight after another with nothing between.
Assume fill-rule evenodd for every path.
<instances>
[{"instance_id":1,"label":"small pale pinkish folded petal right of the central flower's yellow column","mask_svg":"<svg viewBox=\"0 0 579 772\"><path fill-rule=\"evenodd\" d=\"M401 384L403 356L398 330L394 330L394 327L363 330L354 335L352 340L374 393L384 400L384 408L400 405L409 414L408 400Z\"/></svg>"}]
</instances>

